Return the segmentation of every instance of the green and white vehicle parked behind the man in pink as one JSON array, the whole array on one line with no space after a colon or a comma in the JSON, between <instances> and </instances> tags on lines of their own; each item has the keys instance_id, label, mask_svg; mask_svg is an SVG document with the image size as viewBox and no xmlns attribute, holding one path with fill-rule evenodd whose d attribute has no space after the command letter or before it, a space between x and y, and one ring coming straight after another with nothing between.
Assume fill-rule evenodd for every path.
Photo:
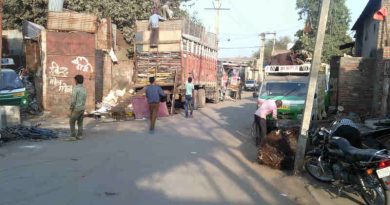
<instances>
[{"instance_id":1,"label":"green and white vehicle parked behind the man in pink","mask_svg":"<svg viewBox=\"0 0 390 205\"><path fill-rule=\"evenodd\" d=\"M270 65L264 68L265 77L258 94L263 100L282 100L278 117L301 120L307 95L310 63L302 65ZM327 107L329 65L322 64L316 92L313 117L321 118Z\"/></svg>"}]
</instances>

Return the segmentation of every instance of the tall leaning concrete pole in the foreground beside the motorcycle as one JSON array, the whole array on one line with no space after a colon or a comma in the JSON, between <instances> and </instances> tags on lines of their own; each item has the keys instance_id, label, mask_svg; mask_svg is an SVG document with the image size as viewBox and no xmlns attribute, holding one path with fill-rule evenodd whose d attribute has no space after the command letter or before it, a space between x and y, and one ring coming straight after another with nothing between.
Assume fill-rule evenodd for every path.
<instances>
[{"instance_id":1,"label":"tall leaning concrete pole in the foreground beside the motorcycle","mask_svg":"<svg viewBox=\"0 0 390 205\"><path fill-rule=\"evenodd\" d=\"M310 128L313 111L314 96L317 89L318 72L321 66L322 47L324 45L326 23L328 22L330 0L322 0L320 22L318 25L317 39L314 48L313 62L311 64L309 88L306 96L305 111L303 114L302 127L298 140L298 148L295 156L294 173L298 174L304 164L308 131Z\"/></svg>"}]
</instances>

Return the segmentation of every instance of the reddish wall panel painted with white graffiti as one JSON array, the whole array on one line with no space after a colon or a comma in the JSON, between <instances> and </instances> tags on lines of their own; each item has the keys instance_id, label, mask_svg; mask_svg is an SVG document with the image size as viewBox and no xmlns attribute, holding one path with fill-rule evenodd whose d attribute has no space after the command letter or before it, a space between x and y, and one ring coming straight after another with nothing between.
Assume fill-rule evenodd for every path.
<instances>
[{"instance_id":1,"label":"reddish wall panel painted with white graffiti","mask_svg":"<svg viewBox=\"0 0 390 205\"><path fill-rule=\"evenodd\" d=\"M95 110L95 35L85 32L42 32L43 107L53 115L69 113L74 76L84 76L86 111Z\"/></svg>"}]
</instances>

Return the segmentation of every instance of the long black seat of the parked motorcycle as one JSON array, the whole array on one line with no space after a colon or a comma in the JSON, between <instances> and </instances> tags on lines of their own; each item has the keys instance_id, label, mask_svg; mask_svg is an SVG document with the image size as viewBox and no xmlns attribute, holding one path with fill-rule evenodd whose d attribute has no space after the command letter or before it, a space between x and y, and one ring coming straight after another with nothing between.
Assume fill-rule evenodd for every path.
<instances>
[{"instance_id":1,"label":"long black seat of the parked motorcycle","mask_svg":"<svg viewBox=\"0 0 390 205\"><path fill-rule=\"evenodd\" d=\"M359 149L351 145L345 138L334 138L331 142L333 146L337 146L345 155L345 159L351 162L369 161L375 156L378 150L375 149Z\"/></svg>"}]
</instances>

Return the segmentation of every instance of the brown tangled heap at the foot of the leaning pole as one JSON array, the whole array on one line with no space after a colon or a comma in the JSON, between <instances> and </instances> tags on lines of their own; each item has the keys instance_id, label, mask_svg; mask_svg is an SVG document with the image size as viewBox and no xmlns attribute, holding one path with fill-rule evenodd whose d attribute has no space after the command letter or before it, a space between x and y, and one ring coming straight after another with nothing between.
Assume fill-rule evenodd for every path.
<instances>
[{"instance_id":1,"label":"brown tangled heap at the foot of the leaning pole","mask_svg":"<svg viewBox=\"0 0 390 205\"><path fill-rule=\"evenodd\" d=\"M260 143L257 161L273 169L292 170L299 128L272 131Z\"/></svg>"}]
</instances>

